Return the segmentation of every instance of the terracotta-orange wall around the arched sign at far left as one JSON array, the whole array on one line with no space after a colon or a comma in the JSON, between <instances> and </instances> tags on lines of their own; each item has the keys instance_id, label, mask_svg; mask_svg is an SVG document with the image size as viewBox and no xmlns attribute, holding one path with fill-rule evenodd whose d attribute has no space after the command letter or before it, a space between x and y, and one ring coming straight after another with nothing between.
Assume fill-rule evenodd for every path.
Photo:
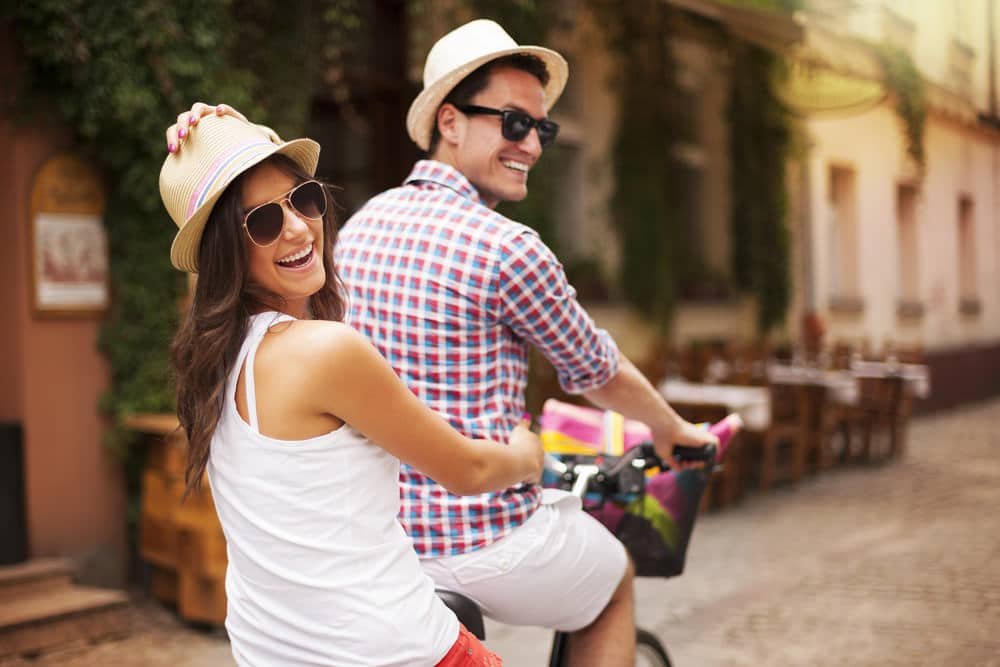
<instances>
[{"instance_id":1,"label":"terracotta-orange wall around the arched sign at far left","mask_svg":"<svg viewBox=\"0 0 1000 667\"><path fill-rule=\"evenodd\" d=\"M0 37L3 34L0 26ZM11 40L0 39L10 44ZM10 66L0 52L0 68ZM14 126L0 117L0 419L24 431L30 556L68 556L83 581L121 585L126 575L121 467L102 444L97 401L108 368L97 351L98 320L39 319L30 295L30 194L42 164L71 148L65 128Z\"/></svg>"}]
</instances>

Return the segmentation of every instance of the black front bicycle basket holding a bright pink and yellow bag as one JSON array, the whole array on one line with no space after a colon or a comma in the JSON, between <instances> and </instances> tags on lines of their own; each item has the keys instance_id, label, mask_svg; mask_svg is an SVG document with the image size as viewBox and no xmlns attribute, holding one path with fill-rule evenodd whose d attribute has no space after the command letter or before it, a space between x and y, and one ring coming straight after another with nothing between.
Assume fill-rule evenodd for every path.
<instances>
[{"instance_id":1,"label":"black front bicycle basket holding a bright pink and yellow bag","mask_svg":"<svg viewBox=\"0 0 1000 667\"><path fill-rule=\"evenodd\" d=\"M549 399L542 406L542 444L553 454L621 454L651 439L644 424L610 411ZM630 498L585 502L585 509L625 545L642 577L684 571L688 542L707 486L703 470L659 472Z\"/></svg>"}]
</instances>

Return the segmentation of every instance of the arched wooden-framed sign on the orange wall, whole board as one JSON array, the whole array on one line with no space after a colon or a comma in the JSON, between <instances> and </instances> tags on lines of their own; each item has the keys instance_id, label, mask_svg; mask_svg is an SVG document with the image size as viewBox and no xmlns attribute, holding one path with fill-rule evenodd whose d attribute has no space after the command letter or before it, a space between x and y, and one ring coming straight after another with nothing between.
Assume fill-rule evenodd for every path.
<instances>
[{"instance_id":1,"label":"arched wooden-framed sign on the orange wall, whole board","mask_svg":"<svg viewBox=\"0 0 1000 667\"><path fill-rule=\"evenodd\" d=\"M108 237L100 174L62 154L31 193L31 292L36 316L100 317L108 308Z\"/></svg>"}]
</instances>

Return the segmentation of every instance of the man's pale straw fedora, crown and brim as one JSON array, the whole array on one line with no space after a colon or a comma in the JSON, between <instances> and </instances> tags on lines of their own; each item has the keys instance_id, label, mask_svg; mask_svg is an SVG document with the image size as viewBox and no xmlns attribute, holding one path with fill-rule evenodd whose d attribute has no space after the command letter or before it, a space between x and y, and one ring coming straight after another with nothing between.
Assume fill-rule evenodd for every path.
<instances>
[{"instance_id":1,"label":"man's pale straw fedora, crown and brim","mask_svg":"<svg viewBox=\"0 0 1000 667\"><path fill-rule=\"evenodd\" d=\"M566 86L569 75L566 60L541 46L519 46L498 24L477 19L449 32L427 54L424 89L406 114L406 131L413 143L428 150L438 107L462 79L491 60L518 53L535 56L545 63L549 71L549 83L545 86L545 111L548 112Z\"/></svg>"}]
</instances>

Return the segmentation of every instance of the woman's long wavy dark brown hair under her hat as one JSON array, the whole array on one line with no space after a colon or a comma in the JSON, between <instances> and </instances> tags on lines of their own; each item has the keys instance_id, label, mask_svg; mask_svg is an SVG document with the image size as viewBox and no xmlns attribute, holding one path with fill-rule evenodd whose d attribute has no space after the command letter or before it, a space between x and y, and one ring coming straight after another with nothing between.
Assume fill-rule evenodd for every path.
<instances>
[{"instance_id":1,"label":"woman's long wavy dark brown hair under her hat","mask_svg":"<svg viewBox=\"0 0 1000 667\"><path fill-rule=\"evenodd\" d=\"M299 183L312 178L283 155L272 156L265 163ZM249 281L247 240L243 230L245 212L240 203L248 173L234 180L212 209L198 247L199 274L194 299L174 336L177 418L188 437L185 497L201 485L212 435L228 398L226 381L246 337L250 316L272 307L267 304L283 302L277 294ZM316 319L339 321L344 317L344 297L333 266L337 225L332 197L326 186L324 190L329 202L323 216L326 283L310 298L309 307Z\"/></svg>"}]
</instances>

